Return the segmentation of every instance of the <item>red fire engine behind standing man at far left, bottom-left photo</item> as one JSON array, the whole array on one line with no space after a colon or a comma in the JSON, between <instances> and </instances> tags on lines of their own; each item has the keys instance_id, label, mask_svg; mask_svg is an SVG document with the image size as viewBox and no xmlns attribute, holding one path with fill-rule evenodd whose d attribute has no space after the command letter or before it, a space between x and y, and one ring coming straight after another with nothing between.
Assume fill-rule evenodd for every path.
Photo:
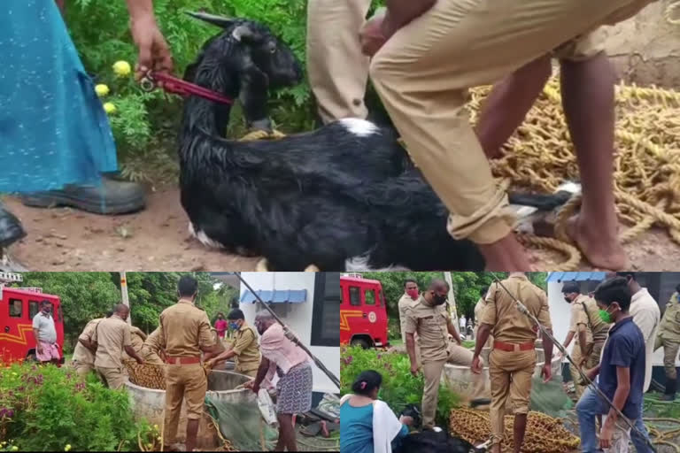
<instances>
[{"instance_id":1,"label":"red fire engine behind standing man at far left, bottom-left photo","mask_svg":"<svg viewBox=\"0 0 680 453\"><path fill-rule=\"evenodd\" d=\"M64 350L64 319L58 296L42 293L42 288L7 288L22 281L20 273L0 273L0 362L35 359L33 317L44 300L52 305L59 351ZM64 363L62 354L61 362Z\"/></svg>"}]
</instances>

